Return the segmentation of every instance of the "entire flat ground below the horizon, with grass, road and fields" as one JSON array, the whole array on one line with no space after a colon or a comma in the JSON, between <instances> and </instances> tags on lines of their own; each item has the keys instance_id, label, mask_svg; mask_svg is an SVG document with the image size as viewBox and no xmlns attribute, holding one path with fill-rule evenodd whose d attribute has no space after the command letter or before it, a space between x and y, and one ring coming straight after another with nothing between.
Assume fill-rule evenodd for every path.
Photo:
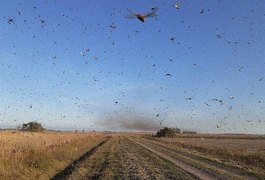
<instances>
[{"instance_id":1,"label":"entire flat ground below the horizon, with grass, road and fields","mask_svg":"<svg viewBox=\"0 0 265 180\"><path fill-rule=\"evenodd\" d=\"M265 137L0 132L0 179L265 179Z\"/></svg>"}]
</instances>

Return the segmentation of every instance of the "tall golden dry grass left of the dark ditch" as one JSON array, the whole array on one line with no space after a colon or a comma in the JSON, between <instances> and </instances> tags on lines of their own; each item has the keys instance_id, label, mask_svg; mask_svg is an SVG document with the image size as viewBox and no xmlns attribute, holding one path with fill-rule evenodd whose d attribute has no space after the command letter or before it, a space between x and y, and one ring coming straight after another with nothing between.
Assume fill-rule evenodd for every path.
<instances>
[{"instance_id":1,"label":"tall golden dry grass left of the dark ditch","mask_svg":"<svg viewBox=\"0 0 265 180\"><path fill-rule=\"evenodd\" d=\"M48 179L103 139L100 133L0 132L0 179Z\"/></svg>"}]
</instances>

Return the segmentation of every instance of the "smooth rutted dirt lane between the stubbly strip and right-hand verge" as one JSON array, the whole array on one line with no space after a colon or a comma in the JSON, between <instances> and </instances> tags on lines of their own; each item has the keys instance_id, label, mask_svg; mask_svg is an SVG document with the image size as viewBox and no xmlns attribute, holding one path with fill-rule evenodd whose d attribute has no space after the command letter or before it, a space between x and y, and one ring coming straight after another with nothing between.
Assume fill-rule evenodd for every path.
<instances>
[{"instance_id":1,"label":"smooth rutted dirt lane between the stubbly strip and right-hand verge","mask_svg":"<svg viewBox=\"0 0 265 180\"><path fill-rule=\"evenodd\" d=\"M200 154L183 149L173 149L165 144L137 138L132 141L154 154L172 162L177 167L193 174L199 179L260 179L254 173L246 172L237 166L209 159Z\"/></svg>"}]
</instances>

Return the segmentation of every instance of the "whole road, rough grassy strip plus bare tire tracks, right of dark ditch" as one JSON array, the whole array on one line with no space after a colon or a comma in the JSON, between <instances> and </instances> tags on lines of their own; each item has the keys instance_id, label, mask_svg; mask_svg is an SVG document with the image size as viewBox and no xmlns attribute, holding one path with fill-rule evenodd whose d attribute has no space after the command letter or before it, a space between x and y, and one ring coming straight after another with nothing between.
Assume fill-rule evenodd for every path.
<instances>
[{"instance_id":1,"label":"whole road, rough grassy strip plus bare tire tracks, right of dark ditch","mask_svg":"<svg viewBox=\"0 0 265 180\"><path fill-rule=\"evenodd\" d=\"M199 154L124 135L101 143L75 166L61 179L261 179Z\"/></svg>"}]
</instances>

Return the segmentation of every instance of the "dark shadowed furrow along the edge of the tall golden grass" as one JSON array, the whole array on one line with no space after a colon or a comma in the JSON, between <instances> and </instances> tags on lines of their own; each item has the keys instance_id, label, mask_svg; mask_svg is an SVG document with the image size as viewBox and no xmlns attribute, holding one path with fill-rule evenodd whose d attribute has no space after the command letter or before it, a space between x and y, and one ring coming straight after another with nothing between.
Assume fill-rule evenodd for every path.
<instances>
[{"instance_id":1,"label":"dark shadowed furrow along the edge of the tall golden grass","mask_svg":"<svg viewBox=\"0 0 265 180\"><path fill-rule=\"evenodd\" d=\"M92 154L94 154L97 149L104 145L110 138L102 141L101 143L99 143L98 145L96 145L95 147L93 147L92 149L90 149L89 151L87 151L85 154L83 154L82 156L80 156L78 159L74 160L71 164L69 164L64 170L62 170L61 172L57 173L56 175L54 175L51 180L64 180L67 179L69 175L71 175L76 168L79 166L79 164L81 164L82 162L84 162L89 156L91 156Z\"/></svg>"}]
</instances>

